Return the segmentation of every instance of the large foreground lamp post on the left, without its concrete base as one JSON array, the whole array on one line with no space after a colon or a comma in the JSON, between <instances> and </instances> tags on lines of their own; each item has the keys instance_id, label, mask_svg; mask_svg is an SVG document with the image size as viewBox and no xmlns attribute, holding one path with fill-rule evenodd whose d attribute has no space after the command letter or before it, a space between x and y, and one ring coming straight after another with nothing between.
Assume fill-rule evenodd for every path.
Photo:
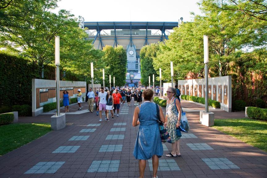
<instances>
[{"instance_id":1,"label":"large foreground lamp post on the left, without its concrete base","mask_svg":"<svg viewBox=\"0 0 267 178\"><path fill-rule=\"evenodd\" d=\"M59 102L59 65L60 65L60 55L59 55L59 36L55 36L55 65L56 65L56 99L57 99L57 116L60 116L60 102Z\"/></svg>"}]
</instances>

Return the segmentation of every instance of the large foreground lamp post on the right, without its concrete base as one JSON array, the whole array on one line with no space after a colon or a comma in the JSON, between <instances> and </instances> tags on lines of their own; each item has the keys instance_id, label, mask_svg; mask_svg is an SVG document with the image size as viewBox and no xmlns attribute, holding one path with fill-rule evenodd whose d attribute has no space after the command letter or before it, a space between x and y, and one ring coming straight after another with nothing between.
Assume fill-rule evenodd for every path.
<instances>
[{"instance_id":1,"label":"large foreground lamp post on the right, without its concrete base","mask_svg":"<svg viewBox=\"0 0 267 178\"><path fill-rule=\"evenodd\" d=\"M209 78L208 78L208 62L209 62L209 39L207 35L203 36L204 42L204 64L205 64L205 112L209 112L209 95L208 95L208 85L209 85Z\"/></svg>"}]
</instances>

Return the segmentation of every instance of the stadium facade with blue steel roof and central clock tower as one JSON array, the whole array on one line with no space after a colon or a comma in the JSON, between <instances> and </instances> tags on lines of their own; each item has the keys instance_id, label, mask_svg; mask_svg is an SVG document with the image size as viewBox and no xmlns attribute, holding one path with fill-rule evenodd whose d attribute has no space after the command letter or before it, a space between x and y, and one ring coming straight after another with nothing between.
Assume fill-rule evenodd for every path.
<instances>
[{"instance_id":1,"label":"stadium facade with blue steel roof and central clock tower","mask_svg":"<svg viewBox=\"0 0 267 178\"><path fill-rule=\"evenodd\" d=\"M177 26L178 22L84 22L89 30L88 39L93 41L95 49L103 49L106 45L123 46L127 53L126 85L135 87L140 85L142 47L168 39L168 30ZM152 30L156 32L152 34Z\"/></svg>"}]
</instances>

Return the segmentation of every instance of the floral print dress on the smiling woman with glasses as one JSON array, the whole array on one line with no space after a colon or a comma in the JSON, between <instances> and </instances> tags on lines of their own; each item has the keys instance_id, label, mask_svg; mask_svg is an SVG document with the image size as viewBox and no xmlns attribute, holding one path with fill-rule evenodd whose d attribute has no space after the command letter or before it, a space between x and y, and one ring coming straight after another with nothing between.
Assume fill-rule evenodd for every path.
<instances>
[{"instance_id":1,"label":"floral print dress on the smiling woman with glasses","mask_svg":"<svg viewBox=\"0 0 267 178\"><path fill-rule=\"evenodd\" d=\"M180 137L177 137L176 135L176 124L178 121L178 113L176 113L174 101L175 100L173 100L170 104L168 104L167 101L167 106L166 106L166 111L167 111L166 129L171 137L172 143L175 143L177 140L180 139Z\"/></svg>"}]
</instances>

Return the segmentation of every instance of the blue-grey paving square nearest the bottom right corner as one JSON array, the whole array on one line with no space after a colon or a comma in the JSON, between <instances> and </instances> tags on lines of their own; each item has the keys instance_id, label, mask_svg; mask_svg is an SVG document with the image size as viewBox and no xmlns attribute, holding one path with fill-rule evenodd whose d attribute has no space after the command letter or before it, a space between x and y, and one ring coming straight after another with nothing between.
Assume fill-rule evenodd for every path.
<instances>
[{"instance_id":1,"label":"blue-grey paving square nearest the bottom right corner","mask_svg":"<svg viewBox=\"0 0 267 178\"><path fill-rule=\"evenodd\" d=\"M227 158L202 158L210 169L240 169Z\"/></svg>"}]
</instances>

